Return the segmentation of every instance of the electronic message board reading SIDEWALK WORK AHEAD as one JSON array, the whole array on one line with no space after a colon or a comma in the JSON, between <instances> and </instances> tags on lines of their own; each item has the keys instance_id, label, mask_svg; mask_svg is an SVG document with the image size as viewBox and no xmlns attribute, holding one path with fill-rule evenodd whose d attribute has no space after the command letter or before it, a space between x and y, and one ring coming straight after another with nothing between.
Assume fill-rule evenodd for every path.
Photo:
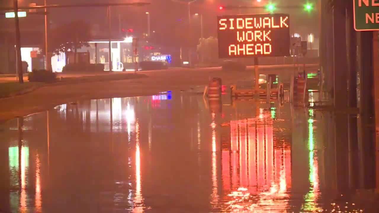
<instances>
[{"instance_id":1,"label":"electronic message board reading SIDEWALK WORK AHEAD","mask_svg":"<svg viewBox=\"0 0 379 213\"><path fill-rule=\"evenodd\" d=\"M219 58L290 55L288 14L218 17Z\"/></svg>"}]
</instances>

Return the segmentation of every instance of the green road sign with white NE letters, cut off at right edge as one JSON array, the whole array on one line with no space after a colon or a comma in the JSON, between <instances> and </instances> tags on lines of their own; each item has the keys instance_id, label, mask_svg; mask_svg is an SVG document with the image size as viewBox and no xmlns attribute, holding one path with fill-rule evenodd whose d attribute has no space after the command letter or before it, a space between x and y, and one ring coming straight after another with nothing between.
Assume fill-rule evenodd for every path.
<instances>
[{"instance_id":1,"label":"green road sign with white NE letters, cut off at right edge","mask_svg":"<svg viewBox=\"0 0 379 213\"><path fill-rule=\"evenodd\" d=\"M353 0L356 31L379 30L379 0Z\"/></svg>"}]
</instances>

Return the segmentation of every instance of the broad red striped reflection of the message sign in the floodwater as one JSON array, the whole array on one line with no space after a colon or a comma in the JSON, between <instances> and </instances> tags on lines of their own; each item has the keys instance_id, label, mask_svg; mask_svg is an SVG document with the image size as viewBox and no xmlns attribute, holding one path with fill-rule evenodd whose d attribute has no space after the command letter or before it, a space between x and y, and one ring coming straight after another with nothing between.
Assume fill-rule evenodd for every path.
<instances>
[{"instance_id":1,"label":"broad red striped reflection of the message sign in the floodwater","mask_svg":"<svg viewBox=\"0 0 379 213\"><path fill-rule=\"evenodd\" d=\"M262 110L258 114L256 119L230 121L230 155L229 150L222 152L223 190L230 197L228 211L288 208L283 197L289 196L291 187L291 150L274 146L273 120ZM251 194L259 199L250 201Z\"/></svg>"}]
</instances>

